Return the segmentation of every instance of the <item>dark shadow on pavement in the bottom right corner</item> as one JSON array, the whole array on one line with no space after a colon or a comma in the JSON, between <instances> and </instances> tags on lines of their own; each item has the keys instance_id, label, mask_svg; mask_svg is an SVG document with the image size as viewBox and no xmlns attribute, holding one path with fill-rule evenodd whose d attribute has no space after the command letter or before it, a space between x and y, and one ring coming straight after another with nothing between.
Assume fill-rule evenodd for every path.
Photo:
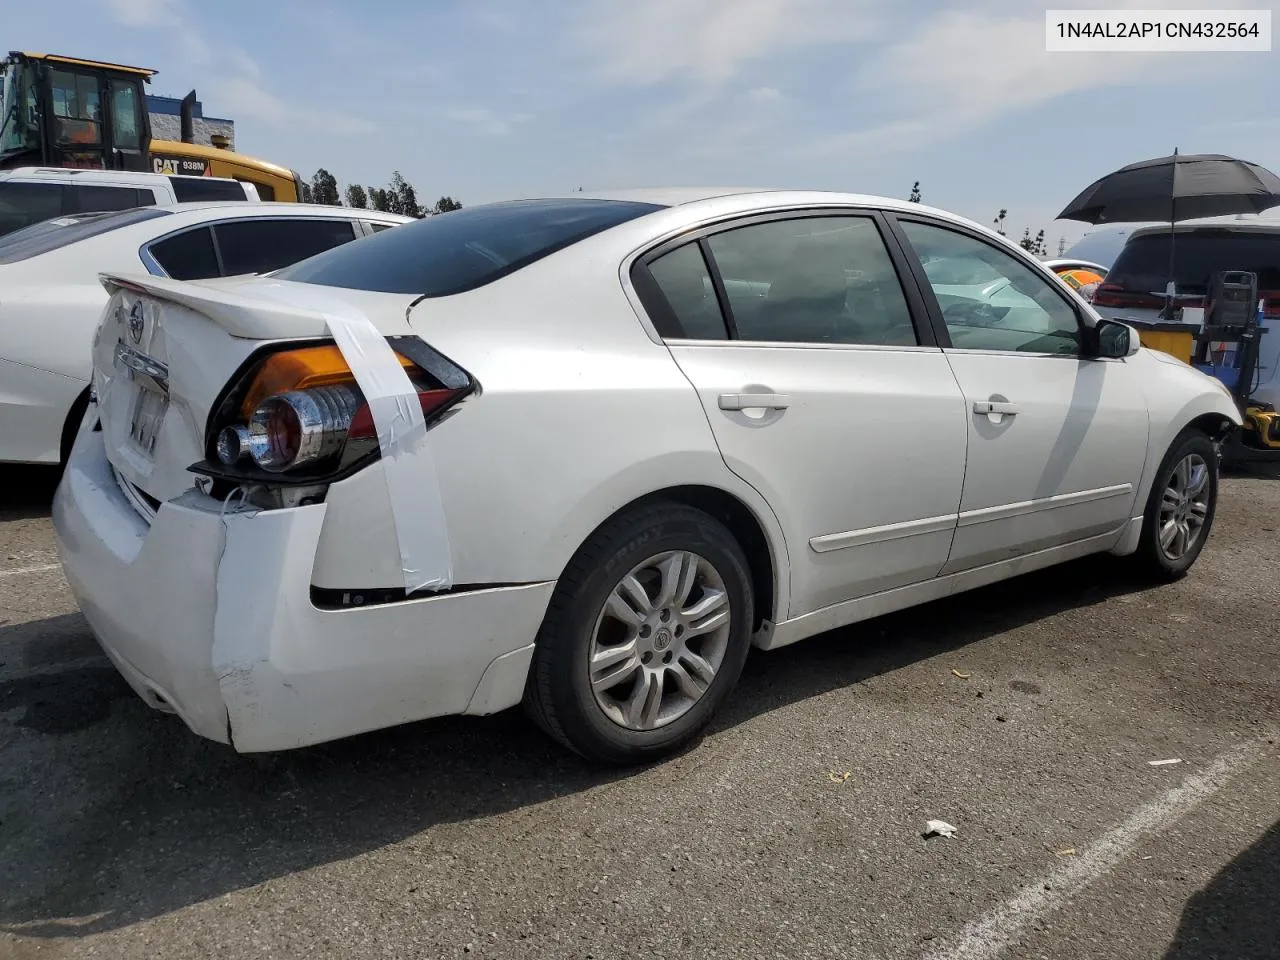
<instances>
[{"instance_id":1,"label":"dark shadow on pavement in the bottom right corner","mask_svg":"<svg viewBox=\"0 0 1280 960\"><path fill-rule=\"evenodd\" d=\"M1280 955L1280 822L1187 901L1165 960Z\"/></svg>"}]
</instances>

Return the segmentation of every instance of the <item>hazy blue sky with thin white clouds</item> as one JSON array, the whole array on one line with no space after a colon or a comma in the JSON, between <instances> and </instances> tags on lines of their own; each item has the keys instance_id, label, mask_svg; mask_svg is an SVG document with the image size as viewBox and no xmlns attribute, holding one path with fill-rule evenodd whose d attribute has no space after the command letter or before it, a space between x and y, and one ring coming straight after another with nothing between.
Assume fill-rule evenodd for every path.
<instances>
[{"instance_id":1,"label":"hazy blue sky with thin white clouds","mask_svg":"<svg viewBox=\"0 0 1280 960\"><path fill-rule=\"evenodd\" d=\"M1266 6L1053 0L1055 9ZM465 205L735 186L927 204L1051 248L1053 216L1135 160L1280 169L1272 52L1046 52L1027 0L60 0L0 47L151 67L237 150Z\"/></svg>"}]
</instances>

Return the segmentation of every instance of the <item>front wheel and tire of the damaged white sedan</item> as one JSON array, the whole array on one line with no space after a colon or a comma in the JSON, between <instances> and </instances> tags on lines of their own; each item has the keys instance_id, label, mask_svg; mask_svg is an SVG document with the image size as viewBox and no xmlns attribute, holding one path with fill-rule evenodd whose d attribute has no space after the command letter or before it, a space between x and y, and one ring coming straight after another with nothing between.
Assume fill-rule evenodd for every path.
<instances>
[{"instance_id":1,"label":"front wheel and tire of the damaged white sedan","mask_svg":"<svg viewBox=\"0 0 1280 960\"><path fill-rule=\"evenodd\" d=\"M1156 472L1134 563L1157 582L1180 579L1208 540L1217 511L1217 451L1190 428L1170 445Z\"/></svg>"}]
</instances>

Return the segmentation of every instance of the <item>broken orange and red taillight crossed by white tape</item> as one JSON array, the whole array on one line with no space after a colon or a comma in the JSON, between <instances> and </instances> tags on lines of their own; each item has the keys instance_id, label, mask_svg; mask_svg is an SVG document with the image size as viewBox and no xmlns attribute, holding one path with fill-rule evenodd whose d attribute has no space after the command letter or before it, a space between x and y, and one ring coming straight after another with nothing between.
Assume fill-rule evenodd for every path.
<instances>
[{"instance_id":1,"label":"broken orange and red taillight crossed by white tape","mask_svg":"<svg viewBox=\"0 0 1280 960\"><path fill-rule=\"evenodd\" d=\"M471 378L421 340L393 346L428 422L472 392ZM211 417L206 447L197 472L284 483L333 479L379 451L372 413L334 346L276 351L251 365Z\"/></svg>"}]
</instances>

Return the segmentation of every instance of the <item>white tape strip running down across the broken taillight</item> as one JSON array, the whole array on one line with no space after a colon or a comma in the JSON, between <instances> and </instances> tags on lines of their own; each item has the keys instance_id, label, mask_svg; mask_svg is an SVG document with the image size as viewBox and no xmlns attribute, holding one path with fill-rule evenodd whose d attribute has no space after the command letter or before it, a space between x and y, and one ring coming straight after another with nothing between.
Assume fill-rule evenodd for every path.
<instances>
[{"instance_id":1,"label":"white tape strip running down across the broken taillight","mask_svg":"<svg viewBox=\"0 0 1280 960\"><path fill-rule=\"evenodd\" d=\"M266 284L255 292L283 300L283 294ZM381 451L404 591L448 590L453 586L449 530L417 389L387 338L365 314L340 301L303 294L296 285L288 291L288 302L324 316L369 403Z\"/></svg>"}]
</instances>

